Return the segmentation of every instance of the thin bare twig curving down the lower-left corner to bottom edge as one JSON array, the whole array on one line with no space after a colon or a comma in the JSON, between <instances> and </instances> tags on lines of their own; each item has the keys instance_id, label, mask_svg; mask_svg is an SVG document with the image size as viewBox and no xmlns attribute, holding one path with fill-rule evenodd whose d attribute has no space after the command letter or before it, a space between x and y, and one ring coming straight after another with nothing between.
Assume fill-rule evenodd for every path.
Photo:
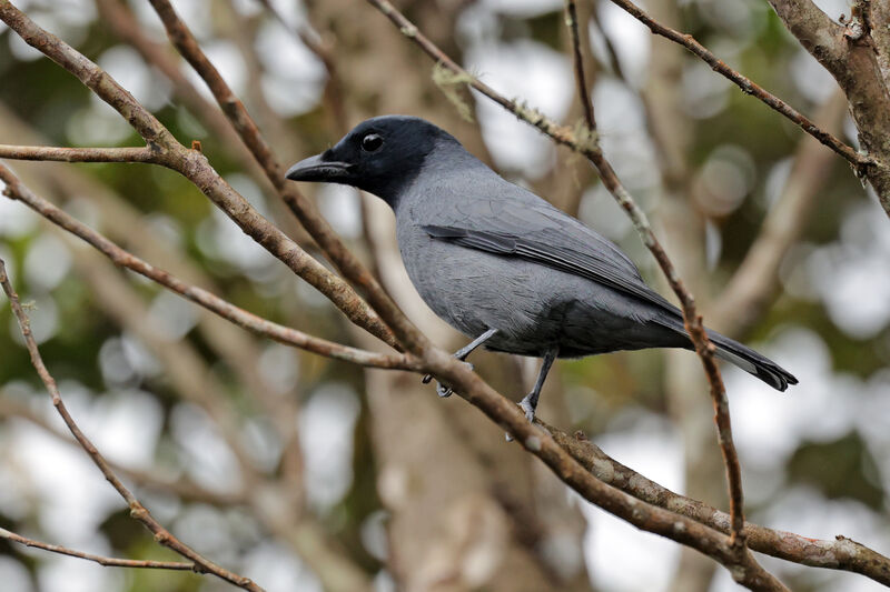
<instances>
[{"instance_id":1,"label":"thin bare twig curving down the lower-left corner to bottom edge","mask_svg":"<svg viewBox=\"0 0 890 592\"><path fill-rule=\"evenodd\" d=\"M221 565L217 565L174 536L157 520L155 520L155 516L151 515L151 513L139 502L136 495L134 495L132 492L120 481L109 465L108 461L105 460L105 456L102 456L96 445L93 445L93 443L80 430L71 414L68 412L68 408L65 405L61 393L56 384L56 379L53 379L49 373L49 370L47 370L47 367L43 363L43 359L40 357L40 351L37 348L37 341L34 341L34 338L31 333L31 323L28 319L28 315L24 313L21 303L19 302L19 295L12 289L12 284L7 277L6 263L2 259L0 259L0 284L2 284L3 292L6 292L7 297L9 298L12 312L19 322L19 329L24 338L24 344L28 348L28 353L31 355L31 363L37 370L37 373L40 375L40 380L46 385L47 391L49 391L50 397L52 398L52 405L56 408L56 411L58 411L59 415L62 418L62 421L65 421L65 424L71 431L71 434L78 441L80 446L87 452L93 464L96 464L96 466L102 472L106 481L108 481L120 494L120 496L123 498L123 501L127 502L127 505L130 509L130 516L141 522L155 535L155 540L158 543L192 561L195 563L195 571L198 571L199 573L212 573L214 575L243 588L244 590L263 592L263 589L254 583L249 578L238 575L235 572L222 568Z\"/></svg>"}]
</instances>

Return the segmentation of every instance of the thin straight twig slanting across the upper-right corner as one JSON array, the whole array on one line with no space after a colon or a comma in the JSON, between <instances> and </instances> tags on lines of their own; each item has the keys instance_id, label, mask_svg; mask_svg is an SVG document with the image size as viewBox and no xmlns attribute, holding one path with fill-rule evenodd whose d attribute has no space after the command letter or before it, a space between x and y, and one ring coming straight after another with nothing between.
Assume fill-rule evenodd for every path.
<instances>
[{"instance_id":1,"label":"thin straight twig slanting across the upper-right corner","mask_svg":"<svg viewBox=\"0 0 890 592\"><path fill-rule=\"evenodd\" d=\"M847 146L846 143L841 142L834 136L829 133L828 131L823 130L809 119L807 119L802 113L795 110L793 107L784 102L782 99L778 98L777 96L770 93L769 91L764 90L762 87L753 82L748 77L742 76L741 73L736 72L726 63L719 59L716 56L711 53L704 46L699 43L695 38L691 34L681 33L670 27L665 27L660 22L655 21L652 17L646 14L640 7L631 2L630 0L612 0L612 3L627 12L630 16L645 24L650 31L654 34L664 37L670 39L675 43L680 43L692 53L704 60L712 70L718 72L719 74L723 76L740 89L745 94L751 94L760 99L763 103L775 110L777 112L781 113L790 121L794 122L799 128L803 131L829 147L831 150L847 159L850 164L852 164L857 171L861 171L864 167L868 167L873 163L872 159L867 154L860 154L853 148Z\"/></svg>"}]
</instances>

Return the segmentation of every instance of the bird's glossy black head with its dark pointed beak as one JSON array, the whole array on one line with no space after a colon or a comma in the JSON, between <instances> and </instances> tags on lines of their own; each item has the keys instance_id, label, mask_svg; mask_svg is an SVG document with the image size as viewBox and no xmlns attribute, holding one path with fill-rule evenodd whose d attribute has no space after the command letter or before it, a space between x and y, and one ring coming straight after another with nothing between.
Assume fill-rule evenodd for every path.
<instances>
[{"instance_id":1,"label":"bird's glossy black head with its dark pointed beak","mask_svg":"<svg viewBox=\"0 0 890 592\"><path fill-rule=\"evenodd\" d=\"M377 117L353 128L335 147L290 167L287 178L353 185L395 207L429 153L443 146L461 144L426 120Z\"/></svg>"}]
</instances>

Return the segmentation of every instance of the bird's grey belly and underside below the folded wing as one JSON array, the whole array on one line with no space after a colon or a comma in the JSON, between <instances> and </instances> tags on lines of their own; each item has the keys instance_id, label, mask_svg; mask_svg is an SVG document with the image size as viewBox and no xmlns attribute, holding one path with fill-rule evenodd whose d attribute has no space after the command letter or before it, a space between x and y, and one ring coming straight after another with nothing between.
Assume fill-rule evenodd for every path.
<instances>
[{"instance_id":1,"label":"bird's grey belly and underside below the folded wing","mask_svg":"<svg viewBox=\"0 0 890 592\"><path fill-rule=\"evenodd\" d=\"M408 277L433 311L467 337L488 329L492 350L561 357L640 349L655 343L651 311L595 282L540 263L399 232ZM673 333L665 331L664 340Z\"/></svg>"}]
</instances>

